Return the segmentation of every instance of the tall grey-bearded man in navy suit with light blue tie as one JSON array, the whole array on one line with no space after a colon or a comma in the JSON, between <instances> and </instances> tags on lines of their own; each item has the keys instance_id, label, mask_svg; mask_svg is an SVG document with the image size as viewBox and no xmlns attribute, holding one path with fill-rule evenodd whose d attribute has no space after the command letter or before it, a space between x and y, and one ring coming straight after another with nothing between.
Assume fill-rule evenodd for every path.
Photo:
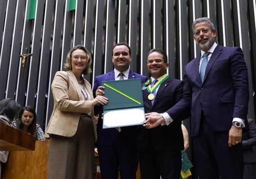
<instances>
[{"instance_id":1,"label":"tall grey-bearded man in navy suit with light blue tie","mask_svg":"<svg viewBox=\"0 0 256 179\"><path fill-rule=\"evenodd\" d=\"M191 105L190 135L200 179L242 179L242 128L247 123L248 75L239 47L222 47L207 17L192 24L201 54L185 66L182 99L168 111L176 122ZM209 52L209 53L208 53ZM206 56L204 55L206 54ZM163 123L157 117L146 128Z\"/></svg>"}]
</instances>

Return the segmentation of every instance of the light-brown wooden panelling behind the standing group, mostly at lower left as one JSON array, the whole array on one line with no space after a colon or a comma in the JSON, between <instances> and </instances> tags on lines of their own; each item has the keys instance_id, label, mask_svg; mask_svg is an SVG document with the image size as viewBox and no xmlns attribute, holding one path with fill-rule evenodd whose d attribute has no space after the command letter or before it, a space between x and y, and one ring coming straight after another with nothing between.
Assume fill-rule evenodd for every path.
<instances>
[{"instance_id":1,"label":"light-brown wooden panelling behind the standing group, mostly at lower left","mask_svg":"<svg viewBox=\"0 0 256 179\"><path fill-rule=\"evenodd\" d=\"M49 145L50 140L35 141L34 151L10 151L1 179L46 179ZM97 153L94 164L100 165ZM101 179L101 173L95 171L94 179ZM139 167L136 179L141 179Z\"/></svg>"}]
</instances>

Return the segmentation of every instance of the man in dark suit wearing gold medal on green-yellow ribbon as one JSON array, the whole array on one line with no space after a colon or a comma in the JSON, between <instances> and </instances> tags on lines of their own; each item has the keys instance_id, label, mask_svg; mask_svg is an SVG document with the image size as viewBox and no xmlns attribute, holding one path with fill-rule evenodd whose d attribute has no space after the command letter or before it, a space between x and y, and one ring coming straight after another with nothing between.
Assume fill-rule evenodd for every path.
<instances>
[{"instance_id":1,"label":"man in dark suit wearing gold medal on green-yellow ribbon","mask_svg":"<svg viewBox=\"0 0 256 179\"><path fill-rule=\"evenodd\" d=\"M179 179L181 174L181 150L184 149L181 122L171 123L166 111L180 100L183 81L168 77L168 65L163 50L149 52L147 68L151 78L142 88L144 109L147 118L159 116L165 123L152 129L140 126L138 130L141 179L160 179L160 176Z\"/></svg>"}]
</instances>

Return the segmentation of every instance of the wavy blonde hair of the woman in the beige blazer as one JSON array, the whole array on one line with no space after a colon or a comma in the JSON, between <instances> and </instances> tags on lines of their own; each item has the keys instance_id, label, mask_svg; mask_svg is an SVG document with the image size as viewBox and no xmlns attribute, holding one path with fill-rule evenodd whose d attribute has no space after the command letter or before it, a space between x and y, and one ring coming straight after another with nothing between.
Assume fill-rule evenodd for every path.
<instances>
[{"instance_id":1,"label":"wavy blonde hair of the woman in the beige blazer","mask_svg":"<svg viewBox=\"0 0 256 179\"><path fill-rule=\"evenodd\" d=\"M91 69L92 56L91 56L90 52L83 45L77 45L77 46L71 48L71 50L66 55L66 63L64 64L64 68L68 71L72 70L71 56L72 56L73 51L78 50L78 49L83 50L87 55L87 60L88 60L87 67L82 72L82 74L87 75L92 72L92 69Z\"/></svg>"}]
</instances>

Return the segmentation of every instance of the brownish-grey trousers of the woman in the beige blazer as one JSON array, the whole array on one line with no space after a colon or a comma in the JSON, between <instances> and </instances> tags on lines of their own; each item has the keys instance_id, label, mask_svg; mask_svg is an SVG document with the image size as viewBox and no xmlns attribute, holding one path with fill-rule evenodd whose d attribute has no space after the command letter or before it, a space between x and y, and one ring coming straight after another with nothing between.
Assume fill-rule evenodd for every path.
<instances>
[{"instance_id":1,"label":"brownish-grey trousers of the woman in the beige blazer","mask_svg":"<svg viewBox=\"0 0 256 179\"><path fill-rule=\"evenodd\" d=\"M72 137L51 134L48 179L93 179L93 120L81 116Z\"/></svg>"}]
</instances>

